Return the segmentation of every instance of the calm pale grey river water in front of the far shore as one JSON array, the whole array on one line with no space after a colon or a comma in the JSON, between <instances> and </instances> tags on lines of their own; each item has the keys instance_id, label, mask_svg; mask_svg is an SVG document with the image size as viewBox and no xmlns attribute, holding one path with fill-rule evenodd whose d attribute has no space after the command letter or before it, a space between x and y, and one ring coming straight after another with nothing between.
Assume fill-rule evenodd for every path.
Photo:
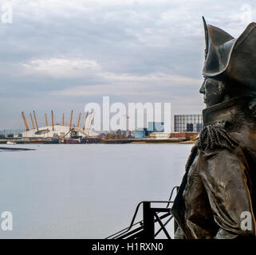
<instances>
[{"instance_id":1,"label":"calm pale grey river water in front of the far shore","mask_svg":"<svg viewBox=\"0 0 256 255\"><path fill-rule=\"evenodd\" d=\"M128 226L136 204L166 200L191 144L16 145L0 152L0 238L104 238ZM0 218L1 222L1 218Z\"/></svg>"}]
</instances>

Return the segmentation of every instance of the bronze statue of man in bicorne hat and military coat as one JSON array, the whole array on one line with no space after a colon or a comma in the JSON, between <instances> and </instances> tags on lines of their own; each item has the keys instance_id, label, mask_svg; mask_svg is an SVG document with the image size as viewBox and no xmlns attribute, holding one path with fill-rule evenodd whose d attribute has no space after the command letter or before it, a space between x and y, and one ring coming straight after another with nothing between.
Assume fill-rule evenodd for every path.
<instances>
[{"instance_id":1,"label":"bronze statue of man in bicorne hat and military coat","mask_svg":"<svg viewBox=\"0 0 256 255\"><path fill-rule=\"evenodd\" d=\"M171 208L175 238L255 238L256 23L237 39L203 23L207 108Z\"/></svg>"}]
</instances>

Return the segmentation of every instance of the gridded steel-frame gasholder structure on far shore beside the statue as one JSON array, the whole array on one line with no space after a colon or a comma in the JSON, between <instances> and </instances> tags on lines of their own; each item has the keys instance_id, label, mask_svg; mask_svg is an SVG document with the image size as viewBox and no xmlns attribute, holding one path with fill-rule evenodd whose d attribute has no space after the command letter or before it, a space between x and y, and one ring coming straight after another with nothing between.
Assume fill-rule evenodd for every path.
<instances>
[{"instance_id":1,"label":"gridded steel-frame gasholder structure on far shore beside the statue","mask_svg":"<svg viewBox=\"0 0 256 255\"><path fill-rule=\"evenodd\" d=\"M175 132L199 132L203 128L202 114L175 115Z\"/></svg>"}]
</instances>

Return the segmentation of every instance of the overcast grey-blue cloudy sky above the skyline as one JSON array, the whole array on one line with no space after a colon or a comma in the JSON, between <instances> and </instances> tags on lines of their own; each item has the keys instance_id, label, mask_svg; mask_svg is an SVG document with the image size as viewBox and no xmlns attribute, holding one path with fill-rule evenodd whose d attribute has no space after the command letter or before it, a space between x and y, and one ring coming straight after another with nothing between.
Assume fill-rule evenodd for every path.
<instances>
[{"instance_id":1,"label":"overcast grey-blue cloudy sky above the skyline","mask_svg":"<svg viewBox=\"0 0 256 255\"><path fill-rule=\"evenodd\" d=\"M77 118L85 104L171 102L198 114L207 22L238 37L256 20L255 1L20 0L0 22L0 128L40 125L53 109ZM4 14L2 8L0 14Z\"/></svg>"}]
</instances>

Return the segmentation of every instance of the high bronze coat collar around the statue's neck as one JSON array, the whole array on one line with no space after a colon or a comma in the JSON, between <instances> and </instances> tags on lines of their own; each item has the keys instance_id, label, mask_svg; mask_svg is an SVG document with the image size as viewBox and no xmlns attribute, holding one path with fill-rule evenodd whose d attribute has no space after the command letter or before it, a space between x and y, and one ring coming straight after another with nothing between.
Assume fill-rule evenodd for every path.
<instances>
[{"instance_id":1,"label":"high bronze coat collar around the statue's neck","mask_svg":"<svg viewBox=\"0 0 256 255\"><path fill-rule=\"evenodd\" d=\"M220 121L234 120L236 113L239 110L241 111L242 105L248 104L250 99L248 96L239 96L203 109L203 126L216 124Z\"/></svg>"}]
</instances>

